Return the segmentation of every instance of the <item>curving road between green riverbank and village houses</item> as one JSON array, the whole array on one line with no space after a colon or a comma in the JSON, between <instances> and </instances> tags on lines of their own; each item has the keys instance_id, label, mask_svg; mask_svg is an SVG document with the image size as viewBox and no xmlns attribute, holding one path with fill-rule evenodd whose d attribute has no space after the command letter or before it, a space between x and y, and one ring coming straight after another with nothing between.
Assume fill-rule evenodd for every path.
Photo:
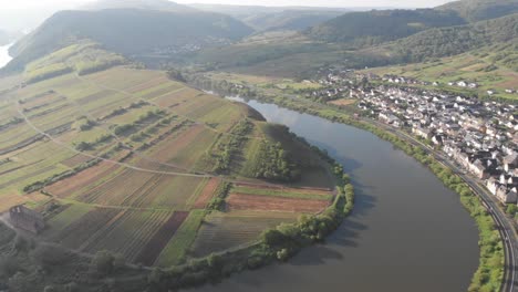
<instances>
[{"instance_id":1,"label":"curving road between green riverbank and village houses","mask_svg":"<svg viewBox=\"0 0 518 292\"><path fill-rule=\"evenodd\" d=\"M437 152L429 147L428 145L419 142L418 139L414 138L413 136L395 129L394 127L387 126L383 123L379 123L373 119L363 119L366 123L375 124L379 127L385 128L386 131L397 135L400 138L405 140L410 140L412 144L421 146L423 149L431 154L443 165L450 168L455 171L462 179L464 179L472 190L479 196L481 201L484 202L488 213L493 217L495 225L498 228L498 231L501 237L501 241L504 243L504 252L505 252L505 271L504 271L504 279L501 284L501 292L518 292L518 283L516 280L518 279L518 270L516 269L516 263L518 262L518 252L516 247L518 247L518 234L516 229L514 228L514 223L511 222L512 219L508 218L504 210L499 207L500 202L498 199L493 196L485 187L481 186L481 181L467 175L460 167L452 163L452 159L447 157L444 153Z\"/></svg>"}]
</instances>

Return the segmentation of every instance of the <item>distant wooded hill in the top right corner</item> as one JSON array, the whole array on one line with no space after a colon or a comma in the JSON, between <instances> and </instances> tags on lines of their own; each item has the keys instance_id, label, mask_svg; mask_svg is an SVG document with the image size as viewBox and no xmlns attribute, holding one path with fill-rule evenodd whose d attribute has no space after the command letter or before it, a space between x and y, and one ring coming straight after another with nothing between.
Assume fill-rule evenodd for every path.
<instances>
[{"instance_id":1,"label":"distant wooded hill in the top right corner","mask_svg":"<svg viewBox=\"0 0 518 292\"><path fill-rule=\"evenodd\" d=\"M436 9L456 11L467 21L476 22L518 12L518 0L462 0Z\"/></svg>"}]
</instances>

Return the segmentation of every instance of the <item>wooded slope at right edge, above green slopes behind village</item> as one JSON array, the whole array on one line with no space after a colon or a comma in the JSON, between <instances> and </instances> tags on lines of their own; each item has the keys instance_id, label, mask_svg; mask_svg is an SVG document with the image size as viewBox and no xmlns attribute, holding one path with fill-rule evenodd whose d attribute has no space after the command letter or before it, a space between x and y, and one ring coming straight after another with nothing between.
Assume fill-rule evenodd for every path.
<instances>
[{"instance_id":1,"label":"wooded slope at right edge, above green slopes behind village","mask_svg":"<svg viewBox=\"0 0 518 292\"><path fill-rule=\"evenodd\" d=\"M518 13L473 24L431 29L388 44L405 62L456 55L486 45L516 43Z\"/></svg>"}]
</instances>

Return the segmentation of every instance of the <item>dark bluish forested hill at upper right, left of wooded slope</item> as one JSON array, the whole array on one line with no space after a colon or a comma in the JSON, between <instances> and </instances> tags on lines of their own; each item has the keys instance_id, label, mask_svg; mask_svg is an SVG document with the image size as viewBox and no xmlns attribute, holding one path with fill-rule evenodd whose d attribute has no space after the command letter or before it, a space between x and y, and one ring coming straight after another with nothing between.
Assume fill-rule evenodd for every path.
<instances>
[{"instance_id":1,"label":"dark bluish forested hill at upper right, left of wooded slope","mask_svg":"<svg viewBox=\"0 0 518 292\"><path fill-rule=\"evenodd\" d=\"M371 45L393 41L431 28L465 24L456 11L434 9L352 12L305 33L320 41Z\"/></svg>"}]
</instances>

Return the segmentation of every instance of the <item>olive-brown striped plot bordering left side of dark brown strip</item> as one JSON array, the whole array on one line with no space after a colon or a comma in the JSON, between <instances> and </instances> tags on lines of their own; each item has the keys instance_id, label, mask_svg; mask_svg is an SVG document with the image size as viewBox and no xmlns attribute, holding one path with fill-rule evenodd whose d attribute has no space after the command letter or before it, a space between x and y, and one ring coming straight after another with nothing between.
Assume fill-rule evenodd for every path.
<instances>
[{"instance_id":1,"label":"olive-brown striped plot bordering left side of dark brown strip","mask_svg":"<svg viewBox=\"0 0 518 292\"><path fill-rule=\"evenodd\" d=\"M127 261L134 262L170 215L170 211L126 210L117 220L91 237L82 246L82 250L91 253L108 250L123 254Z\"/></svg>"}]
</instances>

